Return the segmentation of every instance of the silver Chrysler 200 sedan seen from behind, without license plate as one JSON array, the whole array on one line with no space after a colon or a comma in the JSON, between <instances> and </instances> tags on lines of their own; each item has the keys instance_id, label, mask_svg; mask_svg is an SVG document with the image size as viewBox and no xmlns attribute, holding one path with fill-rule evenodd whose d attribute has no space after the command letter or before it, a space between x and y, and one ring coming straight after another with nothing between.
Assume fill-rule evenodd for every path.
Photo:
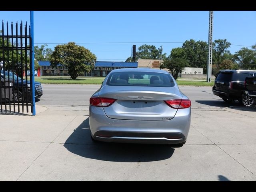
<instances>
[{"instance_id":1,"label":"silver Chrysler 200 sedan seen from behind, without license plate","mask_svg":"<svg viewBox=\"0 0 256 192\"><path fill-rule=\"evenodd\" d=\"M164 70L112 70L90 98L92 140L183 145L191 102Z\"/></svg>"}]
</instances>

